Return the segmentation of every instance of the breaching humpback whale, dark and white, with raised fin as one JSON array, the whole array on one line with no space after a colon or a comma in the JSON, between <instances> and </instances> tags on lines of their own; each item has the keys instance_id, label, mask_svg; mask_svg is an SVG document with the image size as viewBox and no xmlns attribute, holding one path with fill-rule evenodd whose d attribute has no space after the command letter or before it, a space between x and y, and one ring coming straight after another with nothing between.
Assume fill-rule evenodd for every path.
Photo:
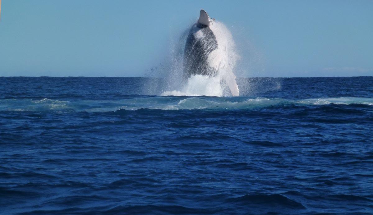
<instances>
[{"instance_id":1,"label":"breaching humpback whale, dark and white, with raised fin","mask_svg":"<svg viewBox=\"0 0 373 215\"><path fill-rule=\"evenodd\" d=\"M219 32L220 31L220 32ZM215 19L210 19L210 16L205 10L200 11L200 18L195 23L186 39L184 49L184 79L190 78L192 75L203 75L210 77L220 77L220 82L228 85L233 96L238 96L238 86L236 76L229 69L232 65L229 64L226 53L229 47L224 39L219 37L222 29L219 29ZM225 45L224 45L225 44Z\"/></svg>"}]
</instances>

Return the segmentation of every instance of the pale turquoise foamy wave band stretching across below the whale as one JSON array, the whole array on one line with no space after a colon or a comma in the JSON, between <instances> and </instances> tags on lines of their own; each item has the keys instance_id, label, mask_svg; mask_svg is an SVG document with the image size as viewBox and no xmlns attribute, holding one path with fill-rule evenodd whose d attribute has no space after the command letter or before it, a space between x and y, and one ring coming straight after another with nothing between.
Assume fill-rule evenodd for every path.
<instances>
[{"instance_id":1,"label":"pale turquoise foamy wave band stretching across below the whale","mask_svg":"<svg viewBox=\"0 0 373 215\"><path fill-rule=\"evenodd\" d=\"M120 100L72 100L55 99L0 99L0 111L87 111L108 112L116 110L241 110L259 109L276 106L314 106L314 105L373 105L373 98L248 98L248 97L138 97Z\"/></svg>"}]
</instances>

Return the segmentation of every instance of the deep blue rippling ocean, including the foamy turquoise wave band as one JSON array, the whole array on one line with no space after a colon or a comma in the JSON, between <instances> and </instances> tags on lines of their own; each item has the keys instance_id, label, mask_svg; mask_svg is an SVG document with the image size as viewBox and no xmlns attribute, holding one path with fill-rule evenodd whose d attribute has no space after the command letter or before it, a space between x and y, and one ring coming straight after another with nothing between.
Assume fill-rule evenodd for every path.
<instances>
[{"instance_id":1,"label":"deep blue rippling ocean, including the foamy turquoise wave band","mask_svg":"<svg viewBox=\"0 0 373 215\"><path fill-rule=\"evenodd\" d=\"M157 82L0 78L0 214L373 213L373 77Z\"/></svg>"}]
</instances>

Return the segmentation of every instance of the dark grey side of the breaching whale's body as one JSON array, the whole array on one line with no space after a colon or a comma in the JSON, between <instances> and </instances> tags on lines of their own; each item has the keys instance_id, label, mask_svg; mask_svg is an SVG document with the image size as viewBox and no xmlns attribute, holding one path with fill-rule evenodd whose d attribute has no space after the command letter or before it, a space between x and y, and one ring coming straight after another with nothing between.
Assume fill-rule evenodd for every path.
<instances>
[{"instance_id":1,"label":"dark grey side of the breaching whale's body","mask_svg":"<svg viewBox=\"0 0 373 215\"><path fill-rule=\"evenodd\" d=\"M202 37L195 38L195 28L201 29ZM201 24L193 26L185 43L184 78L189 78L191 75L216 75L216 70L207 63L209 54L216 48L216 37L208 26Z\"/></svg>"}]
</instances>

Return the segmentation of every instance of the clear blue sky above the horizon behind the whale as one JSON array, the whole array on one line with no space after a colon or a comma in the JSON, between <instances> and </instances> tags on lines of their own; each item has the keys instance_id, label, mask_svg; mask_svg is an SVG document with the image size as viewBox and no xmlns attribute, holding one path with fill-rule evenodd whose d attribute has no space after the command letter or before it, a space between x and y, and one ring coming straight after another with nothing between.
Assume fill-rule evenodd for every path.
<instances>
[{"instance_id":1,"label":"clear blue sky above the horizon behind the whale","mask_svg":"<svg viewBox=\"0 0 373 215\"><path fill-rule=\"evenodd\" d=\"M2 0L0 76L143 76L205 9L238 76L373 75L373 0Z\"/></svg>"}]
</instances>

